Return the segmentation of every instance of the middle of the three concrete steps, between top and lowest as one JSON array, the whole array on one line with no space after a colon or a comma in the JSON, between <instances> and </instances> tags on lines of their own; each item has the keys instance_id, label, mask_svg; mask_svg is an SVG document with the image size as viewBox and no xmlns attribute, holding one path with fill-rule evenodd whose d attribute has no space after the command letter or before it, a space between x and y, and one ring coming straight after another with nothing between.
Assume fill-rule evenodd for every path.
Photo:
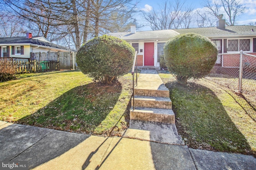
<instances>
[{"instance_id":1,"label":"middle of the three concrete steps, between top and lowest","mask_svg":"<svg viewBox=\"0 0 256 170\"><path fill-rule=\"evenodd\" d=\"M154 96L134 96L135 107L150 107L160 109L172 109L172 101L170 98L161 98ZM133 106L133 98L132 98Z\"/></svg>"}]
</instances>

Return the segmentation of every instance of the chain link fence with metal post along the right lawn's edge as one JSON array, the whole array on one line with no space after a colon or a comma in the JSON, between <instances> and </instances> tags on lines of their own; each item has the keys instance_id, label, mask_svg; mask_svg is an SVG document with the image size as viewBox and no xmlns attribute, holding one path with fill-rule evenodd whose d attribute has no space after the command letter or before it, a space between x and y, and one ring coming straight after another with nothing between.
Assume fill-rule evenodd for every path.
<instances>
[{"instance_id":1,"label":"chain link fence with metal post along the right lawn's edge","mask_svg":"<svg viewBox=\"0 0 256 170\"><path fill-rule=\"evenodd\" d=\"M256 111L256 53L219 54L205 78L238 94Z\"/></svg>"}]
</instances>

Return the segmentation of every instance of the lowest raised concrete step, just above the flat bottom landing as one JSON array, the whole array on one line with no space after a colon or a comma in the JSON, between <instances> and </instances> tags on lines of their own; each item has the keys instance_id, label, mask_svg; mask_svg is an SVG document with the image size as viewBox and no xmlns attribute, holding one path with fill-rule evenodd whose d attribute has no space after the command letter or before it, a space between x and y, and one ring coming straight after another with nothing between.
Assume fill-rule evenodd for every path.
<instances>
[{"instance_id":1,"label":"lowest raised concrete step, just above the flat bottom landing","mask_svg":"<svg viewBox=\"0 0 256 170\"><path fill-rule=\"evenodd\" d=\"M152 121L175 124L172 109L157 109L149 107L133 107L130 109L130 120Z\"/></svg>"}]
</instances>

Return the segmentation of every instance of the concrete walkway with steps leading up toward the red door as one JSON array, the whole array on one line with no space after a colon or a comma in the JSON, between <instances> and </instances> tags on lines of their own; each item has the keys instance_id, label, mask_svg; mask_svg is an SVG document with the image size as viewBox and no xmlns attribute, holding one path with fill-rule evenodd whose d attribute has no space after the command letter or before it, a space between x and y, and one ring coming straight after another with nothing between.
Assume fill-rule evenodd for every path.
<instances>
[{"instance_id":1,"label":"concrete walkway with steps leading up toward the red door","mask_svg":"<svg viewBox=\"0 0 256 170\"><path fill-rule=\"evenodd\" d=\"M176 129L169 89L156 70L141 70L134 90L135 109L132 102L130 125L124 137L184 145Z\"/></svg>"}]
</instances>

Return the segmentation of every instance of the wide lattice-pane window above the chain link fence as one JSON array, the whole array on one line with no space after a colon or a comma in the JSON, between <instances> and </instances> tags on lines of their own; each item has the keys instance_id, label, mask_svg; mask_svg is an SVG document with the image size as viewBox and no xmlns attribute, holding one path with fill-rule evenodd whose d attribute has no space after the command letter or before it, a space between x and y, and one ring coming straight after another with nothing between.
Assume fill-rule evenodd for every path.
<instances>
[{"instance_id":1,"label":"wide lattice-pane window above the chain link fence","mask_svg":"<svg viewBox=\"0 0 256 170\"><path fill-rule=\"evenodd\" d=\"M228 39L228 51L250 51L251 39Z\"/></svg>"}]
</instances>

